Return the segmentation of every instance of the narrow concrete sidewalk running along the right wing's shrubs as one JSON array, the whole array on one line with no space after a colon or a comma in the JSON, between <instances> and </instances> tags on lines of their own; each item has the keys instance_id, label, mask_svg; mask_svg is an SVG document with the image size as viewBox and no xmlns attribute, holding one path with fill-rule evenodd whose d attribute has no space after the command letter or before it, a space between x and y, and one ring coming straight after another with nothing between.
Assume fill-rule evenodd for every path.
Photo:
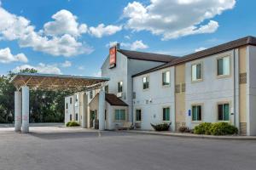
<instances>
[{"instance_id":1,"label":"narrow concrete sidewalk running along the right wing's shrubs","mask_svg":"<svg viewBox=\"0 0 256 170\"><path fill-rule=\"evenodd\" d=\"M196 138L196 139L223 139L223 140L256 140L256 136L213 136L204 134L193 133L171 133L171 132L155 132L155 131L143 131L143 130L127 130L127 133L141 133L161 136L172 136L181 138Z\"/></svg>"}]
</instances>

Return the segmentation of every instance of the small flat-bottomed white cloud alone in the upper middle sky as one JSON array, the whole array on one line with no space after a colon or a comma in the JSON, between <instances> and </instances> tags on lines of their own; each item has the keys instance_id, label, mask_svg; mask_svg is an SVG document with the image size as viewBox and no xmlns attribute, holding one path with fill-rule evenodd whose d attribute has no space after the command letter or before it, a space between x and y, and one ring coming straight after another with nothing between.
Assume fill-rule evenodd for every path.
<instances>
[{"instance_id":1,"label":"small flat-bottomed white cloud alone in the upper middle sky","mask_svg":"<svg viewBox=\"0 0 256 170\"><path fill-rule=\"evenodd\" d=\"M103 36L111 36L118 31L122 30L122 26L105 26L104 24L100 24L97 27L91 26L89 28L90 34L94 37L103 37Z\"/></svg>"}]
</instances>

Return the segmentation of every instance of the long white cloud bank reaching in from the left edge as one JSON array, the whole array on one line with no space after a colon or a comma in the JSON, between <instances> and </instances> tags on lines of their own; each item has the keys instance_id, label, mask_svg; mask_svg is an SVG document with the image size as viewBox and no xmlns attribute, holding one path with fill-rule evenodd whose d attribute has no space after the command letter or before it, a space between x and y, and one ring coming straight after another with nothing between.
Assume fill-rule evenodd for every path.
<instances>
[{"instance_id":1,"label":"long white cloud bank reaching in from the left edge","mask_svg":"<svg viewBox=\"0 0 256 170\"><path fill-rule=\"evenodd\" d=\"M66 26L66 28L68 27L67 31L64 31L61 27L59 28L60 31L55 31L53 26L61 22L59 17L55 17L55 19L55 21L45 26L47 29L46 34L52 35L48 37L44 36L43 30L35 31L35 27L31 25L30 20L10 14L0 7L0 36L2 36L2 39L9 41L17 40L21 48L30 47L35 51L55 56L63 55L69 57L77 54L90 54L93 51L93 48L83 42L79 42L76 37L85 31L84 25L78 25L77 30L74 29L74 26Z\"/></svg>"}]
</instances>

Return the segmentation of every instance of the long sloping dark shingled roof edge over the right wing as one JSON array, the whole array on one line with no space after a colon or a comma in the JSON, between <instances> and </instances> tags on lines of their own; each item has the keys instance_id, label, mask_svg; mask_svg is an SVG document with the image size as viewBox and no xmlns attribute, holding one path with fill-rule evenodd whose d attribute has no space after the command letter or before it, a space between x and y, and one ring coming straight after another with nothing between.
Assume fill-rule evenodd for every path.
<instances>
[{"instance_id":1,"label":"long sloping dark shingled roof edge over the right wing","mask_svg":"<svg viewBox=\"0 0 256 170\"><path fill-rule=\"evenodd\" d=\"M221 44L221 45L218 45L218 46L215 46L215 47L212 47L212 48L207 48L207 49L202 50L200 52L196 52L196 53L193 53L193 54L185 55L183 57L172 59L172 61L170 61L170 62L168 62L164 65L159 65L159 66L156 66L156 67L154 67L152 69L149 69L147 71L139 72L136 75L133 75L132 77L141 76L143 74L147 74L147 73L152 72L152 71L158 71L158 70L164 69L164 68L169 67L169 66L179 65L179 64L182 64L182 63L194 60L194 59L205 58L205 57L213 55L213 54L224 53L224 52L229 51L233 48L240 48L240 47L245 46L245 45L256 46L256 37L252 37L252 36L242 37L240 39L237 39L237 40L234 40L234 41L231 41L231 42L226 42L224 44Z\"/></svg>"}]
</instances>

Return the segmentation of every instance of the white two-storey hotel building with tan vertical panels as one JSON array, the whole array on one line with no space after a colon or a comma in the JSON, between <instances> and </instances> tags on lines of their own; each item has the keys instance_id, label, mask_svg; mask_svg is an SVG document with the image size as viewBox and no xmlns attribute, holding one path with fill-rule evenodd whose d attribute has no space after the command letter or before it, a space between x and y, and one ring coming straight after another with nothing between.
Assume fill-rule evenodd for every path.
<instances>
[{"instance_id":1,"label":"white two-storey hotel building with tan vertical panels","mask_svg":"<svg viewBox=\"0 0 256 170\"><path fill-rule=\"evenodd\" d=\"M152 130L151 123L166 122L177 131L201 122L229 122L243 135L256 135L255 37L178 58L116 46L113 59L111 50L102 65L102 77L110 79L105 93L112 97L106 98L105 129L132 122L135 128ZM97 99L88 102L90 112ZM69 108L66 115L72 111L78 110Z\"/></svg>"}]
</instances>

